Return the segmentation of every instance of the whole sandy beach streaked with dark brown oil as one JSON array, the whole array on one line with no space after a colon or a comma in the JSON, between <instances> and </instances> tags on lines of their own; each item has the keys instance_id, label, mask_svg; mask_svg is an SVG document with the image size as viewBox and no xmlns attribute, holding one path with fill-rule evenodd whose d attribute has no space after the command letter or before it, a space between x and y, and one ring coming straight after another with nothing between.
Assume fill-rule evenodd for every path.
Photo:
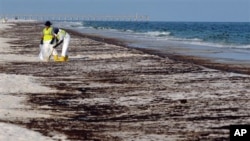
<instances>
[{"instance_id":1,"label":"whole sandy beach streaked with dark brown oil","mask_svg":"<svg viewBox=\"0 0 250 141\"><path fill-rule=\"evenodd\" d=\"M245 66L71 30L69 61L41 62L43 24L0 27L0 140L228 141L250 122Z\"/></svg>"}]
</instances>

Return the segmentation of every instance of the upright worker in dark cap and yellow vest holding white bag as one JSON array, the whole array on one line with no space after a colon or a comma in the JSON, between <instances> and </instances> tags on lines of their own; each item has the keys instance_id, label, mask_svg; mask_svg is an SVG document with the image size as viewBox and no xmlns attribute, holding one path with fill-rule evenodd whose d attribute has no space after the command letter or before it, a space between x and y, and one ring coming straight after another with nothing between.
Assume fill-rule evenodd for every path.
<instances>
[{"instance_id":1,"label":"upright worker in dark cap and yellow vest holding white bag","mask_svg":"<svg viewBox=\"0 0 250 141\"><path fill-rule=\"evenodd\" d=\"M42 31L42 37L40 41L41 52L39 58L41 60L48 59L51 54L54 56L54 61L58 60L58 55L56 50L53 50L52 47L55 44L55 36L53 34L53 27L50 21L45 22L45 28ZM46 56L46 57L45 57Z\"/></svg>"}]
</instances>

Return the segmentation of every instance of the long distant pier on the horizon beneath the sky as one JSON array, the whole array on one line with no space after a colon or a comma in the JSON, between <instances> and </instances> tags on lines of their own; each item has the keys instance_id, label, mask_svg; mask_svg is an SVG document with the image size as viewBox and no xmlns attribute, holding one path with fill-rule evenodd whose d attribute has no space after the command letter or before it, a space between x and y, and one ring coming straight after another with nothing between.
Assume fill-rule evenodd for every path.
<instances>
[{"instance_id":1,"label":"long distant pier on the horizon beneath the sky","mask_svg":"<svg viewBox=\"0 0 250 141\"><path fill-rule=\"evenodd\" d=\"M95 15L18 15L18 14L0 14L0 19L11 20L36 20L36 21L148 21L147 15L132 16L95 16Z\"/></svg>"}]
</instances>

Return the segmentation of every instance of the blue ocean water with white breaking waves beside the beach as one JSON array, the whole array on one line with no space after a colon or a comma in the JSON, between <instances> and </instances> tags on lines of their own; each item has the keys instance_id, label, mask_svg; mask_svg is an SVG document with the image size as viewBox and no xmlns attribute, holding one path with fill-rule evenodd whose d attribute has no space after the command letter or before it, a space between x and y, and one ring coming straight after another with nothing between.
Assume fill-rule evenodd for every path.
<instances>
[{"instance_id":1,"label":"blue ocean water with white breaking waves beside the beach","mask_svg":"<svg viewBox=\"0 0 250 141\"><path fill-rule=\"evenodd\" d=\"M117 38L133 47L217 61L250 62L248 22L72 21L57 25L82 33Z\"/></svg>"}]
</instances>

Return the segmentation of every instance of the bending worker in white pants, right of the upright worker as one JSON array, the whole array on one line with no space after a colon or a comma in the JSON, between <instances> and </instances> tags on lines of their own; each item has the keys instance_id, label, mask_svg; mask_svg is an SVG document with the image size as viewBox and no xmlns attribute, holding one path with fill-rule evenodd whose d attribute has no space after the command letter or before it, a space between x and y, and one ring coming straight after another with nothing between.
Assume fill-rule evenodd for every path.
<instances>
[{"instance_id":1,"label":"bending worker in white pants, right of the upright worker","mask_svg":"<svg viewBox=\"0 0 250 141\"><path fill-rule=\"evenodd\" d=\"M62 53L61 57L58 58L57 61L65 62L68 60L68 47L70 42L70 35L63 29L54 28L53 29L54 36L56 37L56 45L54 45L54 49L62 44Z\"/></svg>"}]
</instances>

